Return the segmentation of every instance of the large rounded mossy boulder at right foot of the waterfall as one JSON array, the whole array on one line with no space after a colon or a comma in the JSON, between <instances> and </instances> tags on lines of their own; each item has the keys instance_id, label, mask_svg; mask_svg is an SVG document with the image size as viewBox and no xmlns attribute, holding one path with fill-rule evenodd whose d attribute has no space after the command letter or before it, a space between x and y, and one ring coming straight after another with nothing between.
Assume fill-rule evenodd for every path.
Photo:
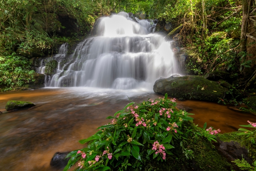
<instances>
[{"instance_id":1,"label":"large rounded mossy boulder at right foot of the waterfall","mask_svg":"<svg viewBox=\"0 0 256 171\"><path fill-rule=\"evenodd\" d=\"M155 93L168 93L176 98L217 102L224 98L226 88L201 76L191 75L158 79L153 90Z\"/></svg>"}]
</instances>

